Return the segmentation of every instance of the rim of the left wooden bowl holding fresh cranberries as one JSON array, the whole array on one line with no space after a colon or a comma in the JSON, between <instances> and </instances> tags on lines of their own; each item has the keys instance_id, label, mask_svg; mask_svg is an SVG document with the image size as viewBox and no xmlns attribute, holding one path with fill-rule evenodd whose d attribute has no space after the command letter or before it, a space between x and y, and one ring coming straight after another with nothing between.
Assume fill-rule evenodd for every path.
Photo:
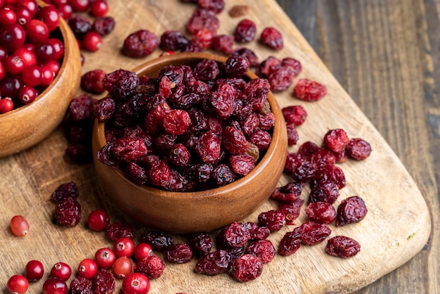
<instances>
[{"instance_id":1,"label":"rim of the left wooden bowl holding fresh cranberries","mask_svg":"<svg viewBox=\"0 0 440 294\"><path fill-rule=\"evenodd\" d=\"M44 6L48 6L48 4L44 3L44 1L41 0L37 0L37 4L38 6L44 7ZM58 29L60 30L61 36L63 37L63 46L64 48L66 47L65 41L67 39L66 34L67 34L67 30L70 30L67 28L67 22L60 17L60 23L58 24ZM76 44L74 44L73 46L75 46ZM32 101L32 103L29 104L25 104L20 106L19 108L15 108L11 111L8 111L7 113L0 113L0 119L1 117L6 117L8 115L13 115L15 113L20 112L20 110L26 110L27 108L32 108L32 106L36 105L37 103L39 103L41 100L44 100L44 96L46 96L46 94L51 91L53 88L55 88L58 85L58 81L61 79L61 75L63 74L63 72L65 72L65 69L67 68L67 63L68 63L68 59L70 56L70 51L69 50L64 50L63 53L63 62L61 63L60 66L60 70L58 70L58 74L56 75L56 77L53 79L53 81L51 82L51 84L46 87L46 89L44 89L44 91L42 91L36 98L34 101Z\"/></svg>"}]
</instances>

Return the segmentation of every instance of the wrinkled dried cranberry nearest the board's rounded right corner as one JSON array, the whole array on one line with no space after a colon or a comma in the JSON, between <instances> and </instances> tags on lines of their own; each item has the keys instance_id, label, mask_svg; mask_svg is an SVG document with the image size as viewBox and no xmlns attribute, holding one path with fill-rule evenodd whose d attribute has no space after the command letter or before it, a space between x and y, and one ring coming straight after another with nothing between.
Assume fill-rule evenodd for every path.
<instances>
[{"instance_id":1,"label":"wrinkled dried cranberry nearest the board's rounded right corner","mask_svg":"<svg viewBox=\"0 0 440 294\"><path fill-rule=\"evenodd\" d=\"M337 207L336 226L345 226L354 222L361 222L367 215L368 209L359 196L351 196L342 200Z\"/></svg>"}]
</instances>

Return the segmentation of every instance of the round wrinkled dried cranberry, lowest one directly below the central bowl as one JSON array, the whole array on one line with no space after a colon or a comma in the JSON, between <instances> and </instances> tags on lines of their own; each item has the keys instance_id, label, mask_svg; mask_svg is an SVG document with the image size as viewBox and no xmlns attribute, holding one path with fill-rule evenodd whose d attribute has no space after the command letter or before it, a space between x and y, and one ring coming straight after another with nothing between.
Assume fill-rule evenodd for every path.
<instances>
[{"instance_id":1,"label":"round wrinkled dried cranberry, lowest one directly below the central bowl","mask_svg":"<svg viewBox=\"0 0 440 294\"><path fill-rule=\"evenodd\" d=\"M263 271L263 262L254 255L245 254L231 263L231 274L239 282L257 279Z\"/></svg>"}]
</instances>

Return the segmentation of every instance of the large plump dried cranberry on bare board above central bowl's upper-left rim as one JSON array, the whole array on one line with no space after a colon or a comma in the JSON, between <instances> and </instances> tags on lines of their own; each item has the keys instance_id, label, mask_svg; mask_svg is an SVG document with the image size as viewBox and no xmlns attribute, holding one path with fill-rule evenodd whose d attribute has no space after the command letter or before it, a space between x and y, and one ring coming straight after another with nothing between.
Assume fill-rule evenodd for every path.
<instances>
[{"instance_id":1,"label":"large plump dried cranberry on bare board above central bowl's upper-left rim","mask_svg":"<svg viewBox=\"0 0 440 294\"><path fill-rule=\"evenodd\" d=\"M137 30L124 40L123 52L129 57L148 56L159 45L157 36L149 30Z\"/></svg>"}]
</instances>

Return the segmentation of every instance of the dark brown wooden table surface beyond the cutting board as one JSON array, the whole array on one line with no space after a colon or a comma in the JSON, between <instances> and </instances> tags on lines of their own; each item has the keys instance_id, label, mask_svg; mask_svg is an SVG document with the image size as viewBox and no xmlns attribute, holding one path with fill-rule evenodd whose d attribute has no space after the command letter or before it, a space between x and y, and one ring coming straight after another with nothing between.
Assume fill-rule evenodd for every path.
<instances>
[{"instance_id":1,"label":"dark brown wooden table surface beyond the cutting board","mask_svg":"<svg viewBox=\"0 0 440 294\"><path fill-rule=\"evenodd\" d=\"M432 215L425 248L358 293L440 293L440 1L277 1L392 146Z\"/></svg>"}]
</instances>

